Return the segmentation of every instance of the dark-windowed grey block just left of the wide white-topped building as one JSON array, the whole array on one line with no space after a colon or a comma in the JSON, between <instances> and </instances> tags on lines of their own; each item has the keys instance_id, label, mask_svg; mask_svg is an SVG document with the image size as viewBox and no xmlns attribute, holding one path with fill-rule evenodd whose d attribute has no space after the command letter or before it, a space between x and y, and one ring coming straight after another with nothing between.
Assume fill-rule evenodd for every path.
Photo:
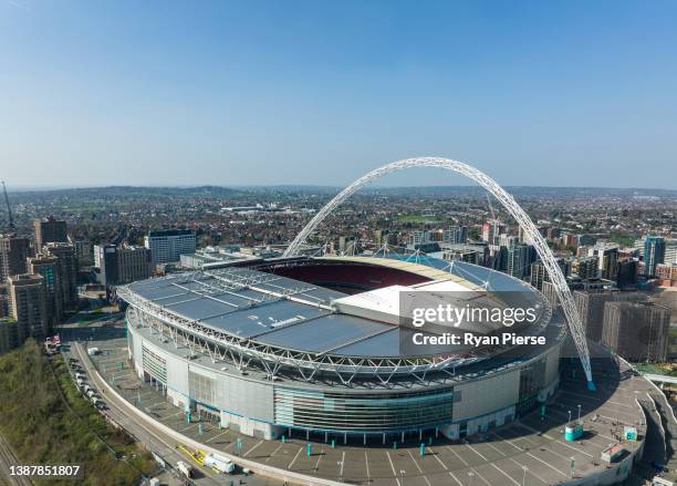
<instances>
[{"instance_id":1,"label":"dark-windowed grey block just left of the wide white-topped building","mask_svg":"<svg viewBox=\"0 0 677 486\"><path fill-rule=\"evenodd\" d=\"M106 287L131 283L153 276L154 265L148 248L98 245L94 249L98 255L101 283Z\"/></svg>"}]
</instances>

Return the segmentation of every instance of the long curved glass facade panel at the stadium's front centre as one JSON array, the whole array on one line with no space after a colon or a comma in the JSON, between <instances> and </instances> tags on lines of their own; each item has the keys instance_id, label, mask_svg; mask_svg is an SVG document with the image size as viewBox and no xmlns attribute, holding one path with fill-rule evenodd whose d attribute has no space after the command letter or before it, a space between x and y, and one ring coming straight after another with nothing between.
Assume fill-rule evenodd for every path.
<instances>
[{"instance_id":1,"label":"long curved glass facade panel at the stadium's front centre","mask_svg":"<svg viewBox=\"0 0 677 486\"><path fill-rule=\"evenodd\" d=\"M417 393L346 394L275 387L279 425L354 433L397 432L451 422L452 389Z\"/></svg>"}]
</instances>

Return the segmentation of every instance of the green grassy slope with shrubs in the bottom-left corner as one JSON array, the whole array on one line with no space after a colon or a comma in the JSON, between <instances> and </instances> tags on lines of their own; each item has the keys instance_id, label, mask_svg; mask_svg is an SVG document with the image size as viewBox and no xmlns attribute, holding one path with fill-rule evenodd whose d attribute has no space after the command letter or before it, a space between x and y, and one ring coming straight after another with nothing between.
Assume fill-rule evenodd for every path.
<instances>
[{"instance_id":1,"label":"green grassy slope with shrubs in the bottom-left corner","mask_svg":"<svg viewBox=\"0 0 677 486\"><path fill-rule=\"evenodd\" d=\"M56 355L52 365L33 340L0 356L0 433L19 459L81 464L86 485L132 485L152 473L150 455L81 395L63 359Z\"/></svg>"}]
</instances>

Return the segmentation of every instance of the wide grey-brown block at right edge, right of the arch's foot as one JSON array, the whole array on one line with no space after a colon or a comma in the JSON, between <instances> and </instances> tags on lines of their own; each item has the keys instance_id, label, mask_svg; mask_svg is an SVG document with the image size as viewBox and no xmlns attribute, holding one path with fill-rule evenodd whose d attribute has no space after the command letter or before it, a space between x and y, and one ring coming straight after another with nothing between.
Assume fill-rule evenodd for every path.
<instances>
[{"instance_id":1,"label":"wide grey-brown block at right edge, right of the arch's foot","mask_svg":"<svg viewBox=\"0 0 677 486\"><path fill-rule=\"evenodd\" d=\"M602 343L628 361L667 359L670 309L652 302L606 302Z\"/></svg>"}]
</instances>

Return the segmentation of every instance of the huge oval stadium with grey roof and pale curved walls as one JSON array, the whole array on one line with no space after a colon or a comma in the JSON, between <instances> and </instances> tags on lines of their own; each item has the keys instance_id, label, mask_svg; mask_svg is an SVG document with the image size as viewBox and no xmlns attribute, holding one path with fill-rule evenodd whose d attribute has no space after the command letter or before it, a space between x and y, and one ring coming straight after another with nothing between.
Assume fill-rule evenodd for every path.
<instances>
[{"instance_id":1,"label":"huge oval stadium with grey roof and pale curved walls","mask_svg":"<svg viewBox=\"0 0 677 486\"><path fill-rule=\"evenodd\" d=\"M510 331L545 337L548 345L412 352L402 343L417 330L399 319L398 296L420 290L451 291L457 304L462 292L511 296L539 311ZM556 391L566 335L561 311L527 283L419 255L238 262L138 281L118 294L128 303L139 378L187 413L269 440L301 433L385 443L491 430Z\"/></svg>"}]
</instances>

